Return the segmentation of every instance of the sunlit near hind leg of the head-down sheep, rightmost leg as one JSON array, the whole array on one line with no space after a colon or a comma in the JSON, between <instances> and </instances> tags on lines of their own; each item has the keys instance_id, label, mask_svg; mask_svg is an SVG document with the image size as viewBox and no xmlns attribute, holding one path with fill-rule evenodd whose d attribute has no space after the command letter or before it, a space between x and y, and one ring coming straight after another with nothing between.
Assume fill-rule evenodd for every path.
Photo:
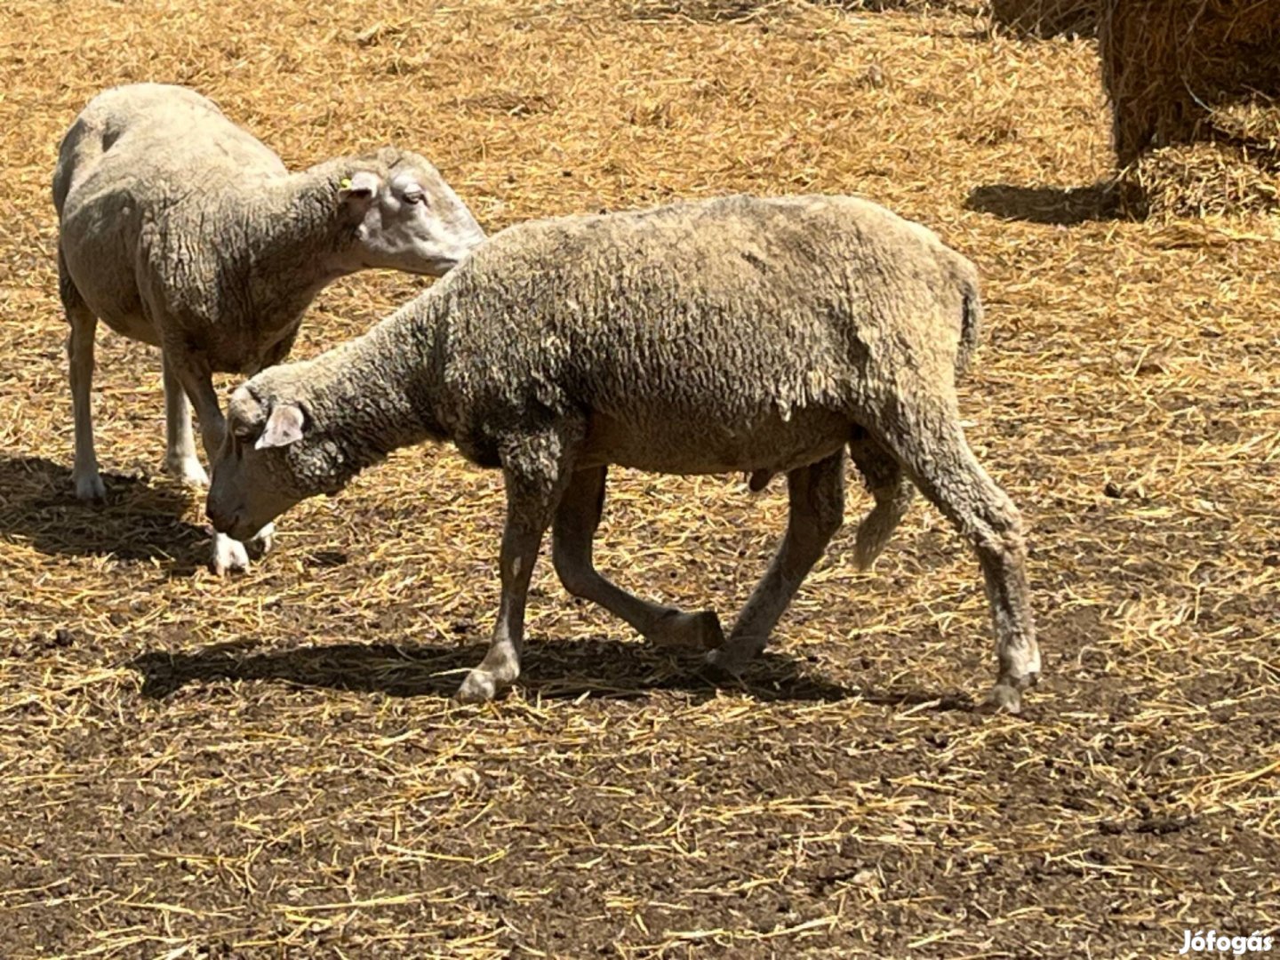
<instances>
[{"instance_id":1,"label":"sunlit near hind leg of the head-down sheep, rightmost leg","mask_svg":"<svg viewBox=\"0 0 1280 960\"><path fill-rule=\"evenodd\" d=\"M1021 691L1036 684L1041 671L1021 515L973 456L954 410L900 417L895 422L913 424L918 431L928 428L913 434L897 426L882 439L920 492L978 554L998 664L986 708L1019 713Z\"/></svg>"}]
</instances>

